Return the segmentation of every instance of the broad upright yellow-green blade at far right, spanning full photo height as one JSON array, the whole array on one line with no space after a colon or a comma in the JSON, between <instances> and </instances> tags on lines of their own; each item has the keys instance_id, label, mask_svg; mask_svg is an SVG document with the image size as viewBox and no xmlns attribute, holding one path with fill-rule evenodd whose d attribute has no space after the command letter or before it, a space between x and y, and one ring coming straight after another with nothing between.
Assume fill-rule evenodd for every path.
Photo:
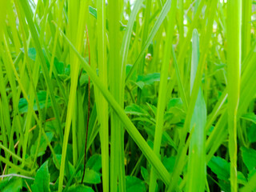
<instances>
[{"instance_id":1,"label":"broad upright yellow-green blade at far right, spanning full photo height","mask_svg":"<svg viewBox=\"0 0 256 192\"><path fill-rule=\"evenodd\" d=\"M240 97L242 1L227 2L227 93L231 191L238 191L237 114Z\"/></svg>"}]
</instances>

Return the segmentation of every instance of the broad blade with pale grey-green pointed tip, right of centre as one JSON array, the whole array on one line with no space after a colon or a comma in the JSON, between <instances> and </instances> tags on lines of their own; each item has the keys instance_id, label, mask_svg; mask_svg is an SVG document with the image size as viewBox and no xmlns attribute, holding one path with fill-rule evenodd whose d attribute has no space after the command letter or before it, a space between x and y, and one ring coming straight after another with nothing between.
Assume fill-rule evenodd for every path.
<instances>
[{"instance_id":1,"label":"broad blade with pale grey-green pointed tip, right of centre","mask_svg":"<svg viewBox=\"0 0 256 192\"><path fill-rule=\"evenodd\" d=\"M192 63L190 72L190 92L194 86L194 78L199 61L198 31L194 30L192 37ZM206 179L206 149L205 149L206 103L202 94L202 86L198 91L194 113L190 122L190 129L194 126L189 148L189 162L186 191L204 191Z\"/></svg>"}]
</instances>

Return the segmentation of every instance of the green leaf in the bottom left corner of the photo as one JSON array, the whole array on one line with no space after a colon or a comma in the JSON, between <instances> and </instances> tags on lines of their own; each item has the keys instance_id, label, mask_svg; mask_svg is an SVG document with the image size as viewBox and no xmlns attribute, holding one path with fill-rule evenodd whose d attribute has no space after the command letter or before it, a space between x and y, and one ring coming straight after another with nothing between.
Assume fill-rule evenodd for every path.
<instances>
[{"instance_id":1,"label":"green leaf in the bottom left corner of the photo","mask_svg":"<svg viewBox=\"0 0 256 192\"><path fill-rule=\"evenodd\" d=\"M22 178L5 178L0 182L0 191L18 192L22 189Z\"/></svg>"}]
</instances>

